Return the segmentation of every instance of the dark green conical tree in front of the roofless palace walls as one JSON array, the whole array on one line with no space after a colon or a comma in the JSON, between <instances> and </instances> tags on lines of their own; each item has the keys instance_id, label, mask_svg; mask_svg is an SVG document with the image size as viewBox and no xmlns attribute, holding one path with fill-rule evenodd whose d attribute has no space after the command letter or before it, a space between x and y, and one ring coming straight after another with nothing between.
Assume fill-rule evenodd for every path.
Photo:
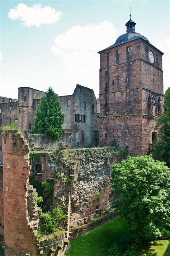
<instances>
[{"instance_id":1,"label":"dark green conical tree in front of the roofless palace walls","mask_svg":"<svg viewBox=\"0 0 170 256\"><path fill-rule=\"evenodd\" d=\"M60 103L51 87L41 99L41 104L36 113L36 122L32 134L46 134L48 138L59 139L63 134L63 114Z\"/></svg>"}]
</instances>

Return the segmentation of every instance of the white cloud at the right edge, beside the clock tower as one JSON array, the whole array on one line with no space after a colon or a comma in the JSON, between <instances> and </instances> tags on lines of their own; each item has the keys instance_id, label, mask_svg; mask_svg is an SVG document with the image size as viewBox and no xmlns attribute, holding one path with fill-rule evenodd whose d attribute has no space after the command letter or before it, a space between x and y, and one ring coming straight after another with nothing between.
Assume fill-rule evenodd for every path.
<instances>
[{"instance_id":1,"label":"white cloud at the right edge, beside the clock tower","mask_svg":"<svg viewBox=\"0 0 170 256\"><path fill-rule=\"evenodd\" d=\"M164 71L164 92L167 90L167 88L170 86L169 82L169 70L170 70L170 38L166 38L165 40L160 41L157 44L157 48L164 52L165 54L162 56L162 66Z\"/></svg>"}]
</instances>

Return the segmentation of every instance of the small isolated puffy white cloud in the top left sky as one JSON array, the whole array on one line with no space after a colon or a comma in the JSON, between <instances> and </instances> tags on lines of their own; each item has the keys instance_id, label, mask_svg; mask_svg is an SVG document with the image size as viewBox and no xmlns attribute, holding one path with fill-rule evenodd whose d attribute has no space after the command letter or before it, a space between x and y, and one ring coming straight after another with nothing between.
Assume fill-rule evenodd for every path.
<instances>
[{"instance_id":1,"label":"small isolated puffy white cloud in the top left sky","mask_svg":"<svg viewBox=\"0 0 170 256\"><path fill-rule=\"evenodd\" d=\"M10 9L8 18L20 19L26 27L40 27L41 24L54 24L60 19L61 11L56 11L50 6L41 7L40 4L35 4L32 7L28 7L25 4L18 4L15 9Z\"/></svg>"}]
</instances>

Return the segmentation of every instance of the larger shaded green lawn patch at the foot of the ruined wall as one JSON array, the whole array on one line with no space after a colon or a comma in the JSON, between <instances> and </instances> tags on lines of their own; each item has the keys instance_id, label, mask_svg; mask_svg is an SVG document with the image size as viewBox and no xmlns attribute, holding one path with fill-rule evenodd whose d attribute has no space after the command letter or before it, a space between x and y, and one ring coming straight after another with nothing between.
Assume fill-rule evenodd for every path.
<instances>
[{"instance_id":1,"label":"larger shaded green lawn patch at the foot of the ruined wall","mask_svg":"<svg viewBox=\"0 0 170 256\"><path fill-rule=\"evenodd\" d=\"M66 256L108 256L110 246L126 245L130 239L127 222L118 216L71 241Z\"/></svg>"}]
</instances>

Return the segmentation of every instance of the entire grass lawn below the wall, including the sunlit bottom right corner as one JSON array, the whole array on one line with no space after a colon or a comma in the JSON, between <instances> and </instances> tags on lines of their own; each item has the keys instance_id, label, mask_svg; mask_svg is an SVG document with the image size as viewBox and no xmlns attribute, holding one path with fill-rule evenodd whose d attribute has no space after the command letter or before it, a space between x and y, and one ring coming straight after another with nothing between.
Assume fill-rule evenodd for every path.
<instances>
[{"instance_id":1,"label":"entire grass lawn below the wall, including the sunlit bottom right corner","mask_svg":"<svg viewBox=\"0 0 170 256\"><path fill-rule=\"evenodd\" d=\"M93 229L71 241L66 256L108 256L108 249L114 243L126 245L131 240L127 222L121 217ZM151 242L135 256L170 256L170 240Z\"/></svg>"}]
</instances>

